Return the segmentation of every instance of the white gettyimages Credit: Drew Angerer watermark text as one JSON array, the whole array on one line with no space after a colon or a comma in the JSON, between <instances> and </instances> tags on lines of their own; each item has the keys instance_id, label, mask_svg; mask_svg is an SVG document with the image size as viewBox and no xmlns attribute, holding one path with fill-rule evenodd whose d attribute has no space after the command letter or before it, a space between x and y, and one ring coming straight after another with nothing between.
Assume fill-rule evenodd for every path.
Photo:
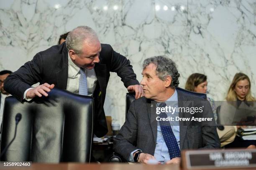
<instances>
[{"instance_id":1,"label":"white gettyimages Credit: Drew Angerer watermark text","mask_svg":"<svg viewBox=\"0 0 256 170\"><path fill-rule=\"evenodd\" d=\"M202 107L172 107L172 106L165 106L165 107L156 107L156 114L158 115L156 117L156 121L197 121L197 122L203 122L203 121L212 121L213 117L201 117L199 115L202 115L204 106ZM165 112L167 117L160 117L161 112ZM188 117L179 117L179 112L183 113L190 113L192 116ZM194 114L199 114L195 115Z\"/></svg>"}]
</instances>

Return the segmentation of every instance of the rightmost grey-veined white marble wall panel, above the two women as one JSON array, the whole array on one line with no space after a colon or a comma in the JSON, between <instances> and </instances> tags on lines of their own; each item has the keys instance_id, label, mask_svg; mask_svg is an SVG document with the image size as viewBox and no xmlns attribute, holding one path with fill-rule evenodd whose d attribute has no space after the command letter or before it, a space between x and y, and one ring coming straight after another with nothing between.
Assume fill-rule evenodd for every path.
<instances>
[{"instance_id":1,"label":"rightmost grey-veined white marble wall panel, above the two women","mask_svg":"<svg viewBox=\"0 0 256 170\"><path fill-rule=\"evenodd\" d=\"M252 75L256 70L249 64L256 62L251 57L255 51L255 32L251 31L255 26L255 4L255 0L188 1L192 28L189 53L200 67L205 65L196 71L208 76L209 95L215 100L224 99L236 72L246 73L255 82ZM255 95L255 85L252 91Z\"/></svg>"}]
</instances>

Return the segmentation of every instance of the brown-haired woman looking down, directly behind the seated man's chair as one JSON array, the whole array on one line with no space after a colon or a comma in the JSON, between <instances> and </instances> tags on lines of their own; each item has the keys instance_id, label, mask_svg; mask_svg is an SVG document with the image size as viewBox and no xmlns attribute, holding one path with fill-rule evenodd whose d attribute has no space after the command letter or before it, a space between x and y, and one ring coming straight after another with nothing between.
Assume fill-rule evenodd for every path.
<instances>
[{"instance_id":1,"label":"brown-haired woman looking down, directly behind the seated man's chair","mask_svg":"<svg viewBox=\"0 0 256 170\"><path fill-rule=\"evenodd\" d=\"M200 92L206 94L207 76L200 73L194 73L190 75L187 79L185 89L193 92ZM218 116L216 113L216 106L214 100L212 100L210 97L207 97L207 100L210 102L212 106L212 112L215 118L215 122L217 122ZM217 128L217 132L220 138L221 147L227 145L228 143L233 142L236 137L235 128L233 126L224 126L224 129L223 127L222 129Z\"/></svg>"}]
</instances>

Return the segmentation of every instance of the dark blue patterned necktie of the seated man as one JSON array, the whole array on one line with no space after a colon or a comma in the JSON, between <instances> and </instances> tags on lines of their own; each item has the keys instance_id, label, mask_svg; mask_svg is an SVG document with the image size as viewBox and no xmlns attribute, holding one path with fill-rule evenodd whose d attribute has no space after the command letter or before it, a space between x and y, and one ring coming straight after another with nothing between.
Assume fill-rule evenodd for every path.
<instances>
[{"instance_id":1,"label":"dark blue patterned necktie of the seated man","mask_svg":"<svg viewBox=\"0 0 256 170\"><path fill-rule=\"evenodd\" d=\"M165 103L161 103L159 107L165 107ZM160 113L160 118L167 118L165 112ZM159 121L162 135L164 137L164 142L168 148L170 159L175 157L180 157L180 150L177 140L172 132L172 127L169 121Z\"/></svg>"}]
</instances>

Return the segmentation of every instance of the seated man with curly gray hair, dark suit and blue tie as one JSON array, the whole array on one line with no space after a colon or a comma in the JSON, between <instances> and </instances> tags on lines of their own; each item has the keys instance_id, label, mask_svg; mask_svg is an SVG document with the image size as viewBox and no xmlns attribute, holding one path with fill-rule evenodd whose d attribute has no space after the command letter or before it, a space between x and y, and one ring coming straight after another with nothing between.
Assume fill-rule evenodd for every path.
<instances>
[{"instance_id":1,"label":"seated man with curly gray hair, dark suit and blue tie","mask_svg":"<svg viewBox=\"0 0 256 170\"><path fill-rule=\"evenodd\" d=\"M179 85L179 73L171 59L157 56L144 60L142 75L144 97L131 103L127 119L114 139L115 152L131 162L179 163L180 150L220 148L210 103L175 89ZM201 115L208 117L210 124L192 126L179 121L173 125L173 121L164 121L168 114L157 112L157 107L170 106L167 101L176 102L181 108L195 108L204 103ZM196 115L190 113L185 116ZM184 111L171 116L184 117Z\"/></svg>"}]
</instances>

